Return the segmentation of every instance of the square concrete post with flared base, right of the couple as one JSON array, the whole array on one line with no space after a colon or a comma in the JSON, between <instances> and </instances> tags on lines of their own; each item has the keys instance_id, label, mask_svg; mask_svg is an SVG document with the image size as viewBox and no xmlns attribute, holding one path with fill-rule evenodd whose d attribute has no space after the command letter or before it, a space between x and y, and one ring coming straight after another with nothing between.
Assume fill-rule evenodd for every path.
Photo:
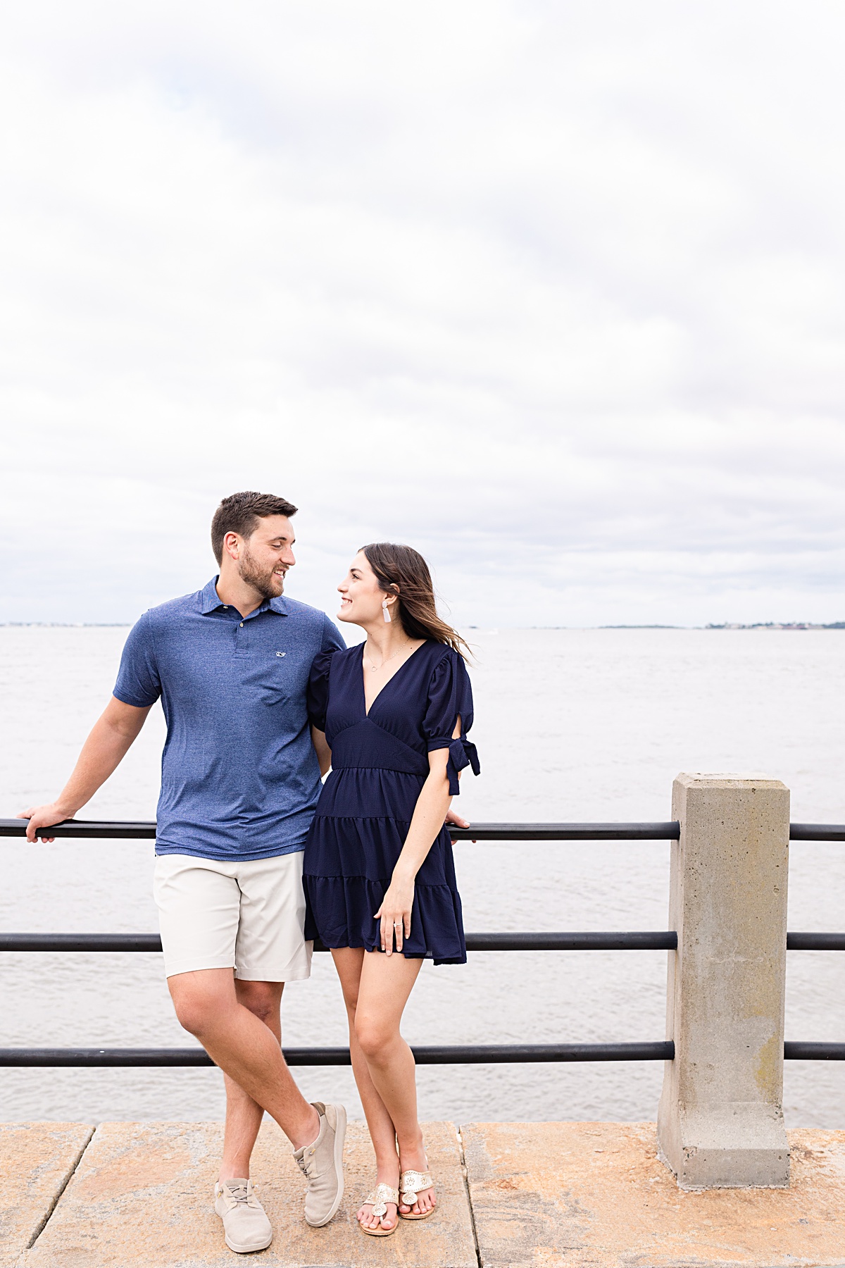
<instances>
[{"instance_id":1,"label":"square concrete post with flared base, right of the couple","mask_svg":"<svg viewBox=\"0 0 845 1268\"><path fill-rule=\"evenodd\" d=\"M679 775L671 847L660 1158L680 1188L789 1183L783 1125L789 790Z\"/></svg>"}]
</instances>

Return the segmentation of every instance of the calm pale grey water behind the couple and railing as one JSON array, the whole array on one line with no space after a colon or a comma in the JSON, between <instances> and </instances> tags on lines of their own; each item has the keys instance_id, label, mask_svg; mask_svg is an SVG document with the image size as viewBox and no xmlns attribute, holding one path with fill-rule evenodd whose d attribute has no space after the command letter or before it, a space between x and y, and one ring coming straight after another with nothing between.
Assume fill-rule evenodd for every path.
<instances>
[{"instance_id":1,"label":"calm pale grey water behind the couple and railing","mask_svg":"<svg viewBox=\"0 0 845 1268\"><path fill-rule=\"evenodd\" d=\"M114 681L124 629L0 628L0 815L56 795ZM680 770L765 771L793 819L845 822L845 633L476 631L483 775L476 820L668 819ZM91 818L152 819L155 713ZM796 844L793 929L845 928L845 846ZM456 846L466 928L665 928L668 846ZM0 843L5 929L156 929L152 846ZM184 1045L155 955L0 955L0 1045ZM661 1038L665 954L470 956L427 965L407 1012L417 1042ZM290 1044L345 1042L328 956L289 988ZM845 1040L845 954L792 952L787 1036ZM659 1064L419 1070L421 1113L471 1120L654 1118ZM347 1070L300 1070L310 1098L360 1116ZM215 1070L0 1070L3 1118L214 1118ZM788 1063L789 1125L845 1127L845 1063Z\"/></svg>"}]
</instances>

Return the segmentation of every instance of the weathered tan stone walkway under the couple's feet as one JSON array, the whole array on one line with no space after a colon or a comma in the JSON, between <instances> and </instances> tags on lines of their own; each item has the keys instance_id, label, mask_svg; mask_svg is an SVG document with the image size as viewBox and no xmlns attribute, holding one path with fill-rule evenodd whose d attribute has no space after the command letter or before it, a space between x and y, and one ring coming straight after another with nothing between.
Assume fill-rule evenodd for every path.
<instances>
[{"instance_id":1,"label":"weathered tan stone walkway under the couple's feet","mask_svg":"<svg viewBox=\"0 0 845 1268\"><path fill-rule=\"evenodd\" d=\"M0 1268L845 1268L845 1132L789 1137L788 1189L682 1193L650 1123L428 1123L437 1215L375 1239L353 1219L366 1129L350 1127L341 1211L309 1229L265 1123L253 1177L276 1235L247 1258L209 1201L218 1123L0 1123Z\"/></svg>"}]
</instances>

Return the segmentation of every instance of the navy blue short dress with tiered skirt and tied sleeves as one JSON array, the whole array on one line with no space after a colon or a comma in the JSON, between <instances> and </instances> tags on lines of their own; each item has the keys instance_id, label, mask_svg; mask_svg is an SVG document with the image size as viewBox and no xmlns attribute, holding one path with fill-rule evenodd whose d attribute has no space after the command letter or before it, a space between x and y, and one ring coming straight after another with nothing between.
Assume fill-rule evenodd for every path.
<instances>
[{"instance_id":1,"label":"navy blue short dress with tiered skirt and tied sleeves","mask_svg":"<svg viewBox=\"0 0 845 1268\"><path fill-rule=\"evenodd\" d=\"M448 790L457 772L479 773L473 690L464 659L426 642L397 670L366 713L364 647L321 653L312 667L308 710L326 732L332 771L305 843L305 937L327 947L380 950L375 913L404 846L428 776L428 753L448 749ZM461 735L452 739L457 718ZM410 937L403 952L435 964L466 964L452 842L443 827L417 872Z\"/></svg>"}]
</instances>

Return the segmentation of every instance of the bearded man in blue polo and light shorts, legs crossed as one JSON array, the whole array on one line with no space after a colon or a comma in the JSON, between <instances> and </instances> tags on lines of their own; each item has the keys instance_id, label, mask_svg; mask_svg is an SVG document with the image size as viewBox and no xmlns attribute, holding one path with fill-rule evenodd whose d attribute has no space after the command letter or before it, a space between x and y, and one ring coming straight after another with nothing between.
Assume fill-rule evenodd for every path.
<instances>
[{"instance_id":1,"label":"bearded man in blue polo and light shorts, legs crossed","mask_svg":"<svg viewBox=\"0 0 845 1268\"><path fill-rule=\"evenodd\" d=\"M155 894L165 971L181 1025L224 1071L215 1210L241 1253L272 1239L250 1182L265 1110L307 1177L305 1220L328 1224L343 1196L346 1111L309 1104L280 1049L284 984L310 974L302 851L321 776L305 687L317 653L345 647L323 612L283 598L295 511L267 493L220 502L219 577L133 626L114 695L66 787L22 815L29 841L53 839L44 829L89 801L161 696Z\"/></svg>"}]
</instances>

